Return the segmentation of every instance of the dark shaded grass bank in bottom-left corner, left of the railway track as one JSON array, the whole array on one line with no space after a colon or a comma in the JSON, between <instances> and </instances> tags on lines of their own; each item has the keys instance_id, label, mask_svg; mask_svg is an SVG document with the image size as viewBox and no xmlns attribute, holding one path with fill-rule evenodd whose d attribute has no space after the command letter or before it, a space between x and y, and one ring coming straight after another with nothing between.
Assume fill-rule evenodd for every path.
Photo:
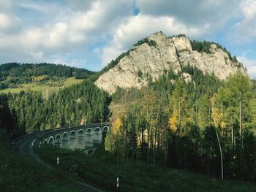
<instances>
[{"instance_id":1,"label":"dark shaded grass bank in bottom-left corner, left of the railway track","mask_svg":"<svg viewBox=\"0 0 256 192\"><path fill-rule=\"evenodd\" d=\"M61 172L46 170L25 155L12 153L0 128L0 191L80 191Z\"/></svg>"}]
</instances>

